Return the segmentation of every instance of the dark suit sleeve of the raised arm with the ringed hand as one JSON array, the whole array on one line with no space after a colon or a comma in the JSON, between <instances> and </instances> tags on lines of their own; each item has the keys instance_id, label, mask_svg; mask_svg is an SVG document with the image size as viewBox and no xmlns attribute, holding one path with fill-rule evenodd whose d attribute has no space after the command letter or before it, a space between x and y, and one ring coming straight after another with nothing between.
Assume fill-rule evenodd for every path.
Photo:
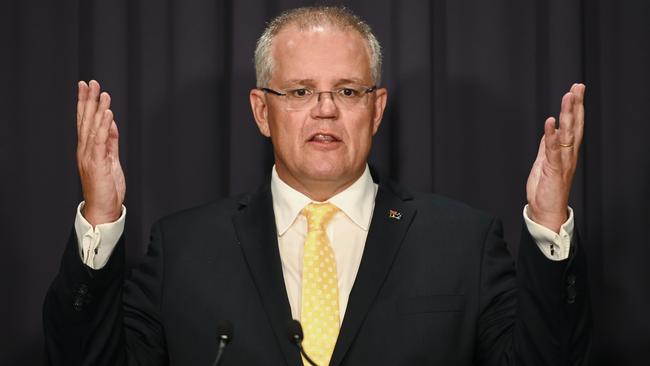
<instances>
[{"instance_id":1,"label":"dark suit sleeve of the raised arm with the ringed hand","mask_svg":"<svg viewBox=\"0 0 650 366\"><path fill-rule=\"evenodd\" d=\"M590 341L587 268L577 231L550 261L524 225L516 269L494 220L481 260L478 365L584 365Z\"/></svg>"}]
</instances>

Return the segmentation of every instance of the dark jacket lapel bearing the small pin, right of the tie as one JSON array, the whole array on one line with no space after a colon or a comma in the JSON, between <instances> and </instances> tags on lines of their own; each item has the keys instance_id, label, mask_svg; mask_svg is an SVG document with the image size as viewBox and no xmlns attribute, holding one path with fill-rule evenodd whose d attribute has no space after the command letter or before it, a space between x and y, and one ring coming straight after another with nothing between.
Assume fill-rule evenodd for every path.
<instances>
[{"instance_id":1,"label":"dark jacket lapel bearing the small pin, right of the tie","mask_svg":"<svg viewBox=\"0 0 650 366\"><path fill-rule=\"evenodd\" d=\"M393 265L416 213L405 204L408 199L382 184L379 186L363 257L330 365L338 366L343 361Z\"/></svg>"}]
</instances>

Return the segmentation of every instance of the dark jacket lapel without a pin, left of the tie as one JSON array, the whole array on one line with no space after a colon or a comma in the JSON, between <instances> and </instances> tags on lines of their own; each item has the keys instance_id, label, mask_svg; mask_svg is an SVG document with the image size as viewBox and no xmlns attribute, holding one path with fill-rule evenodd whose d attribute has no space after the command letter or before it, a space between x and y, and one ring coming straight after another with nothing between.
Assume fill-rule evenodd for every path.
<instances>
[{"instance_id":1,"label":"dark jacket lapel without a pin, left of the tie","mask_svg":"<svg viewBox=\"0 0 650 366\"><path fill-rule=\"evenodd\" d=\"M244 257L287 365L296 365L300 358L287 335L291 307L282 274L270 187L265 185L241 204L246 207L233 223Z\"/></svg>"}]
</instances>

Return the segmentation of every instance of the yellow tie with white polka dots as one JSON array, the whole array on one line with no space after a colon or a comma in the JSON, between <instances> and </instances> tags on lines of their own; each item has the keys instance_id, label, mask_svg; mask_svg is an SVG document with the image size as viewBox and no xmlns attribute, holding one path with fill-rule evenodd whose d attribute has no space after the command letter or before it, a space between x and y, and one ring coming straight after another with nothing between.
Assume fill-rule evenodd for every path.
<instances>
[{"instance_id":1,"label":"yellow tie with white polka dots","mask_svg":"<svg viewBox=\"0 0 650 366\"><path fill-rule=\"evenodd\" d=\"M307 238L302 259L303 347L319 366L330 363L339 335L339 282L336 259L330 246L327 224L339 211L330 204L310 203L302 210L307 218ZM303 360L304 365L308 365Z\"/></svg>"}]
</instances>

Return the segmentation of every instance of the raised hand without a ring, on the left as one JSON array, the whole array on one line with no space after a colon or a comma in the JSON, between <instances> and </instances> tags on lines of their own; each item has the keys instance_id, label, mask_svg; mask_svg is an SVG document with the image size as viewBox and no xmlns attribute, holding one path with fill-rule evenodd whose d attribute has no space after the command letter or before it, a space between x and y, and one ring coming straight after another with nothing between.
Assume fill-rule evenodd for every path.
<instances>
[{"instance_id":1,"label":"raised hand without a ring, on the left","mask_svg":"<svg viewBox=\"0 0 650 366\"><path fill-rule=\"evenodd\" d=\"M77 167L85 200L82 214L93 227L117 220L126 194L110 106L110 95L101 92L97 81L79 82Z\"/></svg>"}]
</instances>

